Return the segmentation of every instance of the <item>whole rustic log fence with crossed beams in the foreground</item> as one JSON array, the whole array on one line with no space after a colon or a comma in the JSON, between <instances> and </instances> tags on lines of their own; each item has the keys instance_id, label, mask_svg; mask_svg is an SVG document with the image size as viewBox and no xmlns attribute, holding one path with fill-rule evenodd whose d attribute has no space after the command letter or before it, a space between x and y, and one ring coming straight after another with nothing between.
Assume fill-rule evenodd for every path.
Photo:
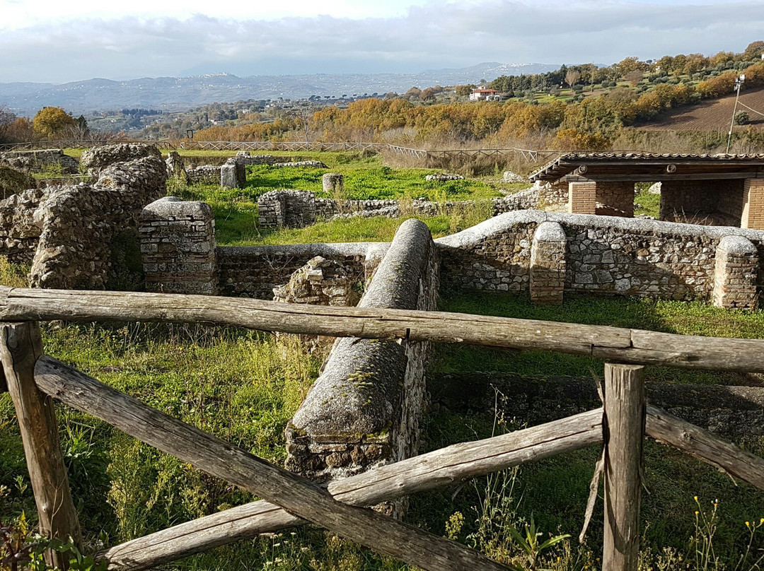
<instances>
[{"instance_id":1,"label":"whole rustic log fence with crossed beams in the foreground","mask_svg":"<svg viewBox=\"0 0 764 571\"><path fill-rule=\"evenodd\" d=\"M415 456L327 488L267 463L45 356L37 321L170 321L261 331L429 340L541 349L606 360L604 406L580 415ZM435 571L506 569L442 537L362 506L602 445L606 571L633 571L639 551L639 493L645 436L691 453L764 490L764 460L646 404L645 364L764 373L764 340L690 337L617 327L437 311L332 308L201 295L0 288L0 391L21 427L40 531L81 541L53 399L206 473L264 498L176 525L99 554L110 569L147 569L231 541L312 523L380 553ZM596 499L593 486L590 505ZM63 564L60 553L48 553Z\"/></svg>"}]
</instances>

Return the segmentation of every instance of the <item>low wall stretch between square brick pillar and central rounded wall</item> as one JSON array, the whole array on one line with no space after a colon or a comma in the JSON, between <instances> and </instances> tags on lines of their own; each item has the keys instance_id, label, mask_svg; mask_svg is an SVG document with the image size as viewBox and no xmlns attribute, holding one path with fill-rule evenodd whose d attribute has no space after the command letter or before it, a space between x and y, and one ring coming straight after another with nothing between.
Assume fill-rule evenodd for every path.
<instances>
[{"instance_id":1,"label":"low wall stretch between square brick pillar and central rounded wall","mask_svg":"<svg viewBox=\"0 0 764 571\"><path fill-rule=\"evenodd\" d=\"M221 295L272 299L274 288L283 286L309 260L322 256L353 270L354 282L365 282L379 263L379 251L389 244L296 244L292 246L218 247L218 279Z\"/></svg>"}]
</instances>

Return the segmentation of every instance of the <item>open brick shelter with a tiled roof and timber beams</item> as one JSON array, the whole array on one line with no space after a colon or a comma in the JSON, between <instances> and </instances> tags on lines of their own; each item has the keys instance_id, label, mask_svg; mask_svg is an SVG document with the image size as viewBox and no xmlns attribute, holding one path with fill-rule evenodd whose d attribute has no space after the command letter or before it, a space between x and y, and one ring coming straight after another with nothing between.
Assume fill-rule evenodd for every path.
<instances>
[{"instance_id":1,"label":"open brick shelter with a tiled roof and timber beams","mask_svg":"<svg viewBox=\"0 0 764 571\"><path fill-rule=\"evenodd\" d=\"M567 153L533 181L568 188L572 214L634 215L636 182L660 182L660 219L764 230L764 154Z\"/></svg>"}]
</instances>

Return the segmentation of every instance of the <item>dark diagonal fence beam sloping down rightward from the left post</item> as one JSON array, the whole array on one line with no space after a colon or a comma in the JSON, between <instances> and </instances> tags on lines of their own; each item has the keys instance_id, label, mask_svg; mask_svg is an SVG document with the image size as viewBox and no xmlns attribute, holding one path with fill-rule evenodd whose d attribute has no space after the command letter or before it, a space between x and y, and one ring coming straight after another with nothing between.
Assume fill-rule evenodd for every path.
<instances>
[{"instance_id":1,"label":"dark diagonal fence beam sloping down rightward from the left post","mask_svg":"<svg viewBox=\"0 0 764 571\"><path fill-rule=\"evenodd\" d=\"M478 551L338 502L325 489L124 395L51 357L37 361L40 390L313 524L422 569L507 569Z\"/></svg>"}]
</instances>

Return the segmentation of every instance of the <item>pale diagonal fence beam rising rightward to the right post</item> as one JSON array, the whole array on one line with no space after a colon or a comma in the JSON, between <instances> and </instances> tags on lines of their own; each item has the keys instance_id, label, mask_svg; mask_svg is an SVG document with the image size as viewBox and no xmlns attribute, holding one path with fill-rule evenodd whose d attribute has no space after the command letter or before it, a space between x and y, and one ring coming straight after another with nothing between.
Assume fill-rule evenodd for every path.
<instances>
[{"instance_id":1,"label":"pale diagonal fence beam rising rightward to the right post","mask_svg":"<svg viewBox=\"0 0 764 571\"><path fill-rule=\"evenodd\" d=\"M329 483L329 492L351 505L374 505L601 442L602 409L598 408L338 479ZM304 523L276 505L252 502L117 545L102 553L102 558L110 569L137 571Z\"/></svg>"}]
</instances>

